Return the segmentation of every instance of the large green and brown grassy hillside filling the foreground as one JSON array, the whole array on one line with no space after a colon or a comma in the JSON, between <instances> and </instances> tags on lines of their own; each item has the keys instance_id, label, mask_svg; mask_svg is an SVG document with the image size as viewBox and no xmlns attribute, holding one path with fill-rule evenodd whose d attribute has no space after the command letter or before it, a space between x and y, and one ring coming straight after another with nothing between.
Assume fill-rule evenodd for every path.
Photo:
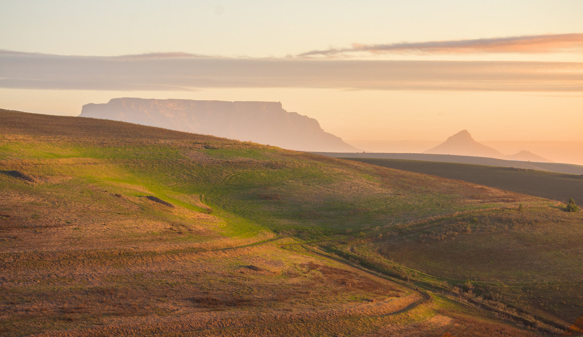
<instances>
[{"instance_id":1,"label":"large green and brown grassy hillside filling the foreground","mask_svg":"<svg viewBox=\"0 0 583 337\"><path fill-rule=\"evenodd\" d=\"M581 255L564 262L577 246L540 248L581 227L553 201L135 124L0 122L2 335L534 336L577 315L545 288L560 267L561 280L582 275ZM478 259L482 273L466 270L472 258L454 267L494 234L531 235L539 255L515 273L502 258L518 255L491 272ZM482 293L454 288L466 277ZM525 280L555 305L540 317L512 314L493 285Z\"/></svg>"}]
</instances>

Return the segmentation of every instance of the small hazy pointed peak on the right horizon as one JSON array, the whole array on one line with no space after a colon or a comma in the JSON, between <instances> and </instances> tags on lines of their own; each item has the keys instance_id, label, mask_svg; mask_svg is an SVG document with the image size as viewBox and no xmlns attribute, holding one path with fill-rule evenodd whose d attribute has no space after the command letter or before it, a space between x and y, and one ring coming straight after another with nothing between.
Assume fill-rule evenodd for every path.
<instances>
[{"instance_id":1,"label":"small hazy pointed peak on the right horizon","mask_svg":"<svg viewBox=\"0 0 583 337\"><path fill-rule=\"evenodd\" d=\"M490 157L502 159L506 157L502 152L480 144L472 138L468 130L462 130L447 138L444 143L430 148L423 153L471 155L475 157Z\"/></svg>"}]
</instances>

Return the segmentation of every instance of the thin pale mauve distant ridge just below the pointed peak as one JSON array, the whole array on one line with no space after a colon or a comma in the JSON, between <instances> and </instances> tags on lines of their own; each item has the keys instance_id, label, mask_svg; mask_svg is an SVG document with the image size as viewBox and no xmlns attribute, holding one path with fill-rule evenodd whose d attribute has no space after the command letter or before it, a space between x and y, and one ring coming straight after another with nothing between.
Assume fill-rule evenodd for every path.
<instances>
[{"instance_id":1,"label":"thin pale mauve distant ridge just below the pointed peak","mask_svg":"<svg viewBox=\"0 0 583 337\"><path fill-rule=\"evenodd\" d=\"M310 152L313 154L326 155L334 158L385 158L385 159L409 159L419 161L441 161L463 164L478 164L490 166L503 166L511 168L534 169L538 171L549 171L559 173L569 173L573 175L583 175L583 165L563 164L554 162L528 162L515 161L497 158L473 157L468 155L447 155L447 154L423 154L423 153L361 153L361 152Z\"/></svg>"}]
</instances>

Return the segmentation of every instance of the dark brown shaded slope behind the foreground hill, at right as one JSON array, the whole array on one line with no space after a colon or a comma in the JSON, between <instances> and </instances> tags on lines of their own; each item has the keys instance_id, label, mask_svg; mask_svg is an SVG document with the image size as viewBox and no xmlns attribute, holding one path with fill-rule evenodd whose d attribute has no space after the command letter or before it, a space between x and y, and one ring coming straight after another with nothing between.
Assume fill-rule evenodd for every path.
<instances>
[{"instance_id":1,"label":"dark brown shaded slope behind the foreground hill, at right","mask_svg":"<svg viewBox=\"0 0 583 337\"><path fill-rule=\"evenodd\" d=\"M570 197L583 202L583 176L499 166L406 159L346 158L367 164L464 180L512 192L566 203Z\"/></svg>"}]
</instances>

